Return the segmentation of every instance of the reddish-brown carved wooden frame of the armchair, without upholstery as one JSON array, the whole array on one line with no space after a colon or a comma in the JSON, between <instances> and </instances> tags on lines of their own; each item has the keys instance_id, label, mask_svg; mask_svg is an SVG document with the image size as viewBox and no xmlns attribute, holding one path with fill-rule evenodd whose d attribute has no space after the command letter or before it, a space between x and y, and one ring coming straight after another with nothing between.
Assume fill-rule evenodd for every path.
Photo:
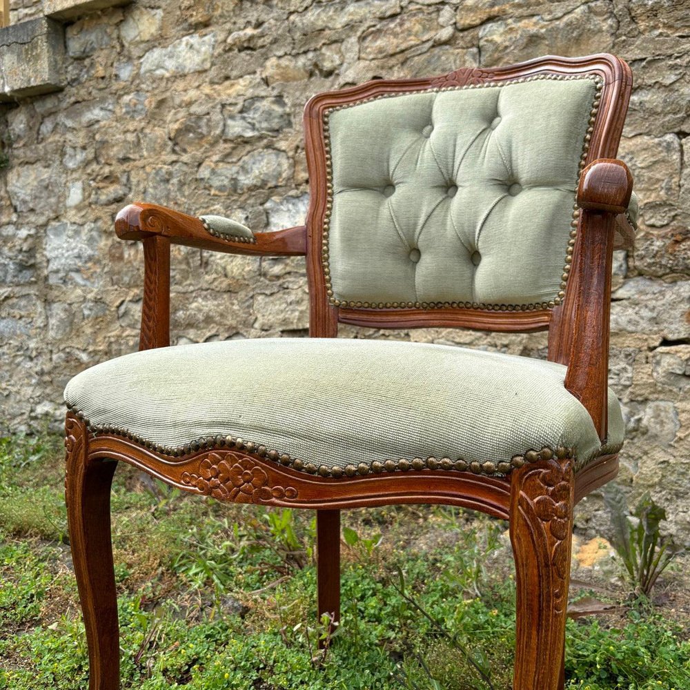
<instances>
[{"instance_id":1,"label":"reddish-brown carved wooden frame of the armchair, without upholstery","mask_svg":"<svg viewBox=\"0 0 690 690\"><path fill-rule=\"evenodd\" d=\"M324 112L334 105L387 92L410 92L521 77L592 73L603 79L598 114L589 132L577 193L577 239L560 304L533 311L495 311L450 305L443 308L351 308L329 300L322 264L322 233L329 211ZM304 255L310 288L310 335L336 337L339 323L377 328L461 326L490 331L549 330L549 359L567 365L566 388L589 411L601 440L607 437L607 373L611 257L630 246L633 230L624 213L632 179L613 159L631 90L628 66L611 55L580 59L546 57L491 71L460 69L437 79L374 81L317 95L306 106L306 154L311 206L306 226L257 233L252 241L211 235L195 218L152 204L124 208L115 223L121 239L144 244L144 303L140 348L168 346L170 244L245 255ZM616 232L618 230L618 232ZM75 573L90 657L90 690L119 687L119 640L110 544L110 482L117 461L127 462L172 486L210 493L190 482L221 460L262 472L262 486L230 500L317 510L318 610L339 616L341 509L392 503L465 506L509 520L517 571L516 690L556 690L564 684L564 626L569 586L573 506L615 477L618 456L604 455L575 474L564 449L530 451L506 476L425 469L333 477L317 468L297 471L281 457L242 440L209 439L171 457L119 433L89 428L71 412L66 420L66 497ZM311 474L309 472L312 472Z\"/></svg>"}]
</instances>

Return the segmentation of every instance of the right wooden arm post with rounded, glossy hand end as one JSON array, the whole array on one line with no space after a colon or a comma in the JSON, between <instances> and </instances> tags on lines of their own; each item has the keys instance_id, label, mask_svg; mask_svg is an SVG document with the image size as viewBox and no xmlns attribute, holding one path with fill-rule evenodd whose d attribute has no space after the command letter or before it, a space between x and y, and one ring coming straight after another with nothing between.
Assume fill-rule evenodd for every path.
<instances>
[{"instance_id":1,"label":"right wooden arm post with rounded, glossy hand end","mask_svg":"<svg viewBox=\"0 0 690 690\"><path fill-rule=\"evenodd\" d=\"M613 159L584 168L578 188L582 220L573 266L578 275L576 325L565 387L587 408L601 440L607 437L613 233L632 188L627 166Z\"/></svg>"}]
</instances>

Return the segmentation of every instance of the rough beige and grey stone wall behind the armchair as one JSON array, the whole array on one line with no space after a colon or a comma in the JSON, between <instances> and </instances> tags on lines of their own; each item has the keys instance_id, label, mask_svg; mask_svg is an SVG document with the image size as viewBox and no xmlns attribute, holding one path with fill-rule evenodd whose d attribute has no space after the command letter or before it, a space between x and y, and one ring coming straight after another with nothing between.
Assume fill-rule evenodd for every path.
<instances>
[{"instance_id":1,"label":"rough beige and grey stone wall behind the armchair","mask_svg":"<svg viewBox=\"0 0 690 690\"><path fill-rule=\"evenodd\" d=\"M12 0L13 21L37 0ZM620 147L642 224L615 257L611 385L622 481L690 541L690 3L687 0L139 0L68 23L66 88L2 106L0 398L6 429L61 417L81 369L137 346L141 248L129 201L224 213L255 230L304 220L301 112L315 92L538 55L615 52L635 91ZM304 259L177 248L174 342L306 335ZM357 335L343 328L344 335ZM538 335L376 332L544 356ZM589 499L580 526L602 520Z\"/></svg>"}]
</instances>

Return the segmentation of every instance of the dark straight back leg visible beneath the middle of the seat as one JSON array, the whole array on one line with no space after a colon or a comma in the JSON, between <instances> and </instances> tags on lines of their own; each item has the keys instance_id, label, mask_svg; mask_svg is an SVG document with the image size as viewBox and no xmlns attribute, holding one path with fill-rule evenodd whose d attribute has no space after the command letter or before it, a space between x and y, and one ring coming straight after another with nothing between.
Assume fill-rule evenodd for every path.
<instances>
[{"instance_id":1,"label":"dark straight back leg visible beneath the middle of the seat","mask_svg":"<svg viewBox=\"0 0 690 690\"><path fill-rule=\"evenodd\" d=\"M340 620L340 511L316 511L316 570L319 620Z\"/></svg>"}]
</instances>

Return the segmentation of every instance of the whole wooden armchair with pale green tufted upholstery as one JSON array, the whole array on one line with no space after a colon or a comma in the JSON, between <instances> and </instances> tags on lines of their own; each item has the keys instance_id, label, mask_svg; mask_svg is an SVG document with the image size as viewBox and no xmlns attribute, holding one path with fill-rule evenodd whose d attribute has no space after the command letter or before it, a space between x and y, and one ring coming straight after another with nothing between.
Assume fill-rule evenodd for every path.
<instances>
[{"instance_id":1,"label":"whole wooden armchair with pale green tufted upholstery","mask_svg":"<svg viewBox=\"0 0 690 690\"><path fill-rule=\"evenodd\" d=\"M90 690L118 687L109 492L117 462L218 500L317 511L319 613L339 615L342 509L446 503L509 520L514 687L562 688L573 506L618 472L607 388L615 160L631 72L545 57L316 95L306 226L252 233L152 204L140 352L66 388L66 497ZM308 339L168 348L170 243L304 255ZM549 331L549 361L337 339L339 323ZM270 405L266 401L270 400Z\"/></svg>"}]
</instances>

